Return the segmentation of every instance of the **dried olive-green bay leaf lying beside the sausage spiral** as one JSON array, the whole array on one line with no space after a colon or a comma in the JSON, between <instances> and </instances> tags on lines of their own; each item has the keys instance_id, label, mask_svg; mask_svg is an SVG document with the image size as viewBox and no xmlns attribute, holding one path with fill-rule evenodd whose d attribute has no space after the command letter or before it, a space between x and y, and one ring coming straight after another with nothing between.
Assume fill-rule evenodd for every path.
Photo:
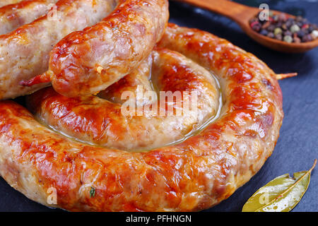
<instances>
[{"instance_id":1,"label":"dried olive-green bay leaf lying beside the sausage spiral","mask_svg":"<svg viewBox=\"0 0 318 226\"><path fill-rule=\"evenodd\" d=\"M283 174L257 190L243 206L242 212L288 212L292 210L307 191L310 184L308 171L295 172L293 177Z\"/></svg>"}]
</instances>

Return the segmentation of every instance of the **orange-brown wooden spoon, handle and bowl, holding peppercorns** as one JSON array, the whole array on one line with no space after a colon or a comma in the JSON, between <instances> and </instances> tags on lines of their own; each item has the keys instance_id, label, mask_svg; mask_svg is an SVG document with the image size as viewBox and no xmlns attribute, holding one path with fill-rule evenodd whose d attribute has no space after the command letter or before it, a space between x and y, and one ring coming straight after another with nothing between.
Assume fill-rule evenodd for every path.
<instances>
[{"instance_id":1,"label":"orange-brown wooden spoon, handle and bowl, holding peppercorns","mask_svg":"<svg viewBox=\"0 0 318 226\"><path fill-rule=\"evenodd\" d=\"M233 1L227 0L177 0L192 4L194 6L199 6L201 8L206 8L213 12L219 13L223 16L226 16L234 20L242 30L245 31L249 37L252 37L253 40L263 44L270 49L274 49L279 52L288 52L288 53L300 53L306 52L314 47L318 46L318 38L311 42L301 42L301 43L288 43L280 40L273 39L271 37L266 37L260 35L258 32L252 30L249 25L249 20L254 18L254 16L259 13L259 8L249 7L242 4L237 4ZM274 14L281 13L279 11L273 11ZM295 18L295 16L285 13L286 16Z\"/></svg>"}]
</instances>

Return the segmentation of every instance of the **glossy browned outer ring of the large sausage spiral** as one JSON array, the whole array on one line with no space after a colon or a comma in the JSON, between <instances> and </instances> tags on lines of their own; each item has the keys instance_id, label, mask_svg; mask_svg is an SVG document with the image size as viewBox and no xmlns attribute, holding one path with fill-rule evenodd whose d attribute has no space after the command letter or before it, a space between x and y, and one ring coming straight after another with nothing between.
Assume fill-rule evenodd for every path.
<instances>
[{"instance_id":1,"label":"glossy browned outer ring of the large sausage spiral","mask_svg":"<svg viewBox=\"0 0 318 226\"><path fill-rule=\"evenodd\" d=\"M275 74L199 30L169 25L160 47L197 61L220 81L220 117L204 131L177 145L129 153L72 141L18 104L0 102L1 176L29 198L66 210L201 210L228 198L278 139L283 111ZM57 189L57 205L47 203L49 188Z\"/></svg>"}]
</instances>

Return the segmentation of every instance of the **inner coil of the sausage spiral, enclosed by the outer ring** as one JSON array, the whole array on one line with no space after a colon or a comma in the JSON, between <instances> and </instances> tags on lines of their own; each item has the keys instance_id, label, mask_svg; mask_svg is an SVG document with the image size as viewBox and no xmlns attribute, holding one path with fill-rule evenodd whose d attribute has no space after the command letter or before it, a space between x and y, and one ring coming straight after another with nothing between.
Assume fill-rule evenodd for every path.
<instances>
[{"instance_id":1,"label":"inner coil of the sausage spiral, enclosed by the outer ring","mask_svg":"<svg viewBox=\"0 0 318 226\"><path fill-rule=\"evenodd\" d=\"M129 95L132 100L128 101L149 94L152 102L146 105L141 103L139 112L125 109L134 109L136 105L120 105L94 95L64 97L52 88L30 95L28 105L37 118L56 131L107 148L151 150L181 140L216 115L218 87L211 73L182 54L169 49L156 49L151 55L152 64L146 65L146 68L151 66L151 81L160 93L141 93L143 90L137 93L138 88L143 87L129 84L126 77L118 83L128 83L120 88L119 84L114 84L108 90L109 96ZM139 68L136 71L143 70ZM139 76L148 75L132 73L128 77L138 83ZM133 90L132 93L124 93L129 90ZM167 95L162 95L163 92ZM189 109L185 106L187 101Z\"/></svg>"}]
</instances>

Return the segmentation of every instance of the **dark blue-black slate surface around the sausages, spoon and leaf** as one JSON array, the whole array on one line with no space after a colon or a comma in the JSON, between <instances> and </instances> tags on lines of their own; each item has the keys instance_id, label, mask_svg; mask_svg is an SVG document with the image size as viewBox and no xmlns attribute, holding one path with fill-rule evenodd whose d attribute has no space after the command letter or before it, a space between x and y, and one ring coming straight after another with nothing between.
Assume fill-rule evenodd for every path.
<instances>
[{"instance_id":1,"label":"dark blue-black slate surface around the sausages, spoon and leaf","mask_svg":"<svg viewBox=\"0 0 318 226\"><path fill-rule=\"evenodd\" d=\"M217 1L217 0L216 0ZM318 0L240 0L249 6L269 4L270 9L304 16L318 24ZM257 189L281 174L310 169L318 158L318 48L305 54L282 54L251 40L234 22L216 13L170 1L170 22L206 30L252 52L276 73L298 72L298 77L280 81L285 118L281 136L264 167L235 194L206 211L240 211ZM317 167L318 169L318 167ZM318 172L293 211L318 211ZM52 211L12 189L0 178L0 211ZM59 210L53 210L59 211Z\"/></svg>"}]
</instances>

